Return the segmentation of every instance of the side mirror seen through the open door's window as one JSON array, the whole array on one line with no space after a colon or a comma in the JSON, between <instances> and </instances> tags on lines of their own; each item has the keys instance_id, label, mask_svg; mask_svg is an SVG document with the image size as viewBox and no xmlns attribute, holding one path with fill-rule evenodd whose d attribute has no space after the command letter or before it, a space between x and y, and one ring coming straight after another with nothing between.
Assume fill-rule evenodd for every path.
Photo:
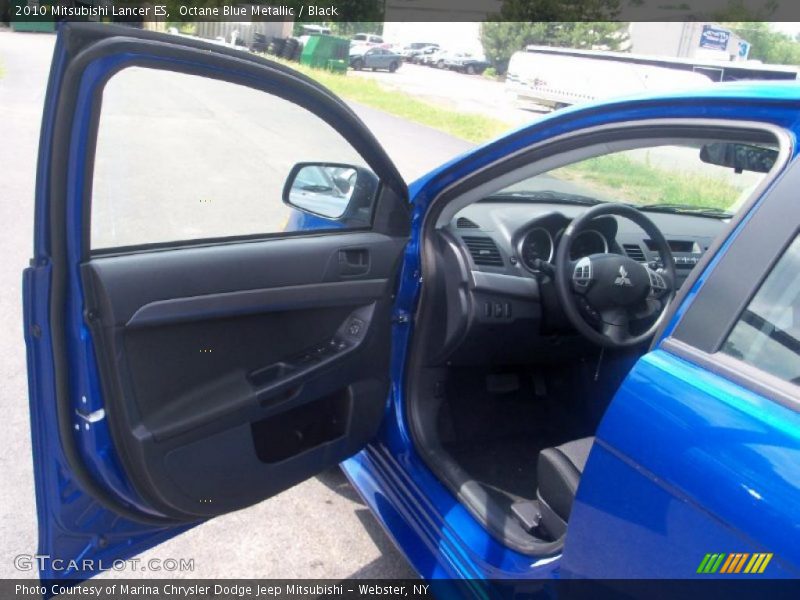
<instances>
[{"instance_id":1,"label":"side mirror seen through the open door's window","mask_svg":"<svg viewBox=\"0 0 800 600\"><path fill-rule=\"evenodd\" d=\"M331 220L369 224L378 177L369 169L338 163L298 163L283 187L288 206Z\"/></svg>"}]
</instances>

